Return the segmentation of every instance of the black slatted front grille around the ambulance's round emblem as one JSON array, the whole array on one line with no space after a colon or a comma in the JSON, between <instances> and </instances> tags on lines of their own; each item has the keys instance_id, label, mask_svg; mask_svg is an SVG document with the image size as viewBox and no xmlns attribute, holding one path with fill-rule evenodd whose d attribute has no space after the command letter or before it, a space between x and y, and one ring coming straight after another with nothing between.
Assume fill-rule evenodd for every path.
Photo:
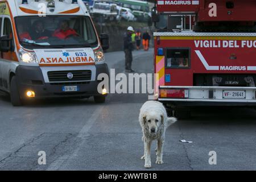
<instances>
[{"instance_id":1,"label":"black slatted front grille around the ambulance's round emblem","mask_svg":"<svg viewBox=\"0 0 256 182\"><path fill-rule=\"evenodd\" d=\"M68 78L68 73L72 73L73 78ZM90 70L51 71L47 74L50 82L90 81L92 77L92 71Z\"/></svg>"}]
</instances>

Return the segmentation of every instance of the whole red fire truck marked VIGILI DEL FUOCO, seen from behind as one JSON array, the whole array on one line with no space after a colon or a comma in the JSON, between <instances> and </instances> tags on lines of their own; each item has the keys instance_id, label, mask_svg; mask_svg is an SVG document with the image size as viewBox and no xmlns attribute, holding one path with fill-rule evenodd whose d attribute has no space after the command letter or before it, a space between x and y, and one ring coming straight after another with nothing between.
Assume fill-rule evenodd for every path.
<instances>
[{"instance_id":1,"label":"whole red fire truck marked VIGILI DEL FUOCO, seen from behind","mask_svg":"<svg viewBox=\"0 0 256 182\"><path fill-rule=\"evenodd\" d=\"M152 21L160 102L256 106L255 0L157 0Z\"/></svg>"}]
</instances>

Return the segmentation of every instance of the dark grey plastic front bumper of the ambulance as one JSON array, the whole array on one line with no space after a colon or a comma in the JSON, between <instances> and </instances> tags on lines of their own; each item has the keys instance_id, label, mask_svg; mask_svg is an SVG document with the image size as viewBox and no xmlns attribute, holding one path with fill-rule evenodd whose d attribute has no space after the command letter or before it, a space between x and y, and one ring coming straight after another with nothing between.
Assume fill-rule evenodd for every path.
<instances>
[{"instance_id":1,"label":"dark grey plastic front bumper of the ambulance","mask_svg":"<svg viewBox=\"0 0 256 182\"><path fill-rule=\"evenodd\" d=\"M65 69L72 70L75 67L69 67ZM100 73L106 73L109 75L109 69L107 64L96 64L80 67L77 69L88 69L93 68L92 78L93 80L85 81L69 81L69 82L50 82L46 78L46 72L40 67L23 66L19 65L16 68L17 85L19 94L22 99L27 98L27 91L32 90L35 92L34 98L57 98L57 97L77 97L85 98L90 96L101 96L98 93L97 87L101 80L97 80L97 76ZM55 69L55 68L52 68ZM57 68L56 68L57 69ZM74 92L64 92L64 86L77 86L79 88ZM107 94L104 94L106 96Z\"/></svg>"}]
</instances>

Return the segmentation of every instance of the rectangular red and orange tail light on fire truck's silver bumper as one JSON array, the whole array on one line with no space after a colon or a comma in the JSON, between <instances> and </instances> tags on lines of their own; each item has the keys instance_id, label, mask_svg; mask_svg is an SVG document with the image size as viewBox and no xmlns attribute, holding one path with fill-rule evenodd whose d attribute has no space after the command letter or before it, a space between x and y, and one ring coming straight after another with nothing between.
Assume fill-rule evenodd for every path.
<instances>
[{"instance_id":1,"label":"rectangular red and orange tail light on fire truck's silver bumper","mask_svg":"<svg viewBox=\"0 0 256 182\"><path fill-rule=\"evenodd\" d=\"M188 89L160 89L160 97L188 98Z\"/></svg>"}]
</instances>

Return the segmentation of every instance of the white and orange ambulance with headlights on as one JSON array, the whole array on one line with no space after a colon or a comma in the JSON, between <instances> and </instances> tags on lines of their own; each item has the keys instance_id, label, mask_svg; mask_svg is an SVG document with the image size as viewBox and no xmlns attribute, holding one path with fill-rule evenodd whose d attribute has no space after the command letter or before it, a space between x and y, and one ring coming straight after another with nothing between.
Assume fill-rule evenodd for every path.
<instances>
[{"instance_id":1,"label":"white and orange ambulance with headlights on","mask_svg":"<svg viewBox=\"0 0 256 182\"><path fill-rule=\"evenodd\" d=\"M51 97L94 97L108 35L97 35L81 0L0 1L0 90L11 103Z\"/></svg>"}]
</instances>

